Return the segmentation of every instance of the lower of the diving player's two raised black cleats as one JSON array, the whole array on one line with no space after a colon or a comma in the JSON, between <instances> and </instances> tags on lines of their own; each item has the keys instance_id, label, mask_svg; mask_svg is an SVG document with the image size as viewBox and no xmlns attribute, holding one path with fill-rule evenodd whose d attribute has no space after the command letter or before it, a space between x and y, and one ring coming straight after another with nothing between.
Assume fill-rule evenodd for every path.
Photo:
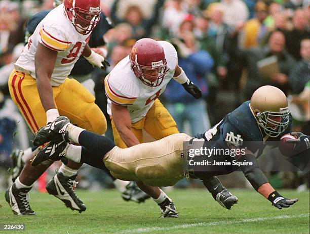
<instances>
[{"instance_id":1,"label":"lower of the diving player's two raised black cleats","mask_svg":"<svg viewBox=\"0 0 310 234\"><path fill-rule=\"evenodd\" d=\"M69 144L64 142L62 138L52 141L33 156L31 165L37 166L46 160L61 160L66 155L68 147Z\"/></svg>"}]
</instances>

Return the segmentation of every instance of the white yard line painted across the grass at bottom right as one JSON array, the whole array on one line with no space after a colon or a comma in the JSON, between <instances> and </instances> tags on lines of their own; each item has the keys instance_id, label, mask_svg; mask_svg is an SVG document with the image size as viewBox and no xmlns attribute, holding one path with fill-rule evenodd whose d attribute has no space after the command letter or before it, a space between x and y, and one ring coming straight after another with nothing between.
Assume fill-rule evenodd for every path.
<instances>
[{"instance_id":1,"label":"white yard line painted across the grass at bottom right","mask_svg":"<svg viewBox=\"0 0 310 234\"><path fill-rule=\"evenodd\" d=\"M190 224L181 224L175 226L168 226L168 227L144 227L144 228L137 228L131 230L124 230L117 233L143 233L149 231L167 231L172 229L181 229L181 228L188 228L188 227L201 227L201 226L217 226L217 225L229 225L229 224L236 224L236 223L247 223L247 222L257 222L263 220L273 220L273 219L288 219L288 218L302 218L302 217L309 217L309 214L298 214L298 215L280 215L274 217L262 217L262 218L247 218L241 220L232 220L232 221L215 221L215 222L199 222L199 223L190 223Z\"/></svg>"}]
</instances>

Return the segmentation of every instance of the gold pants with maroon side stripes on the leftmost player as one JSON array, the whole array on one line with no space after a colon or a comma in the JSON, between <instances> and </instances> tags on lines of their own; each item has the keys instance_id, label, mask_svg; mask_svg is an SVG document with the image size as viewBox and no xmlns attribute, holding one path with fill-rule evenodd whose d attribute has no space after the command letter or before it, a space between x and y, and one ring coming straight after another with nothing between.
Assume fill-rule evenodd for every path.
<instances>
[{"instance_id":1,"label":"gold pants with maroon side stripes on the leftmost player","mask_svg":"<svg viewBox=\"0 0 310 234\"><path fill-rule=\"evenodd\" d=\"M19 108L33 133L46 125L46 112L38 95L36 80L29 74L12 71L9 81L12 100ZM53 96L60 115L68 117L73 124L86 130L103 134L106 119L95 104L95 98L74 79L53 86Z\"/></svg>"}]
</instances>

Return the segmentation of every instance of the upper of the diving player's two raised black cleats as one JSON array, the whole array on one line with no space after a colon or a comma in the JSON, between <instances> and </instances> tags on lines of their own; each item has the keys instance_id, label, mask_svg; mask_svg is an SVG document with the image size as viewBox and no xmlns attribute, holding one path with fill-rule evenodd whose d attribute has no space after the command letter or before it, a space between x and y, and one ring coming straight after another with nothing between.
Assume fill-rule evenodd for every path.
<instances>
[{"instance_id":1,"label":"upper of the diving player's two raised black cleats","mask_svg":"<svg viewBox=\"0 0 310 234\"><path fill-rule=\"evenodd\" d=\"M65 116L59 116L53 122L40 128L33 139L34 146L42 146L43 144L57 139L63 138L67 141L66 127L71 124L70 120Z\"/></svg>"}]
</instances>

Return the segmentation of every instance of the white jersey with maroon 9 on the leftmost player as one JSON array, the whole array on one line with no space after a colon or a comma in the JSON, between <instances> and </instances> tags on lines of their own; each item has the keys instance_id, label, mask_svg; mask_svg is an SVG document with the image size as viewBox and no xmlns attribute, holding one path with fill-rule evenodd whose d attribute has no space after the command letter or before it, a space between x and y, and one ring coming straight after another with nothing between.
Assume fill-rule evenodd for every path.
<instances>
[{"instance_id":1,"label":"white jersey with maroon 9 on the leftmost player","mask_svg":"<svg viewBox=\"0 0 310 234\"><path fill-rule=\"evenodd\" d=\"M58 52L51 77L51 85L58 86L70 74L74 63L83 53L89 37L90 34L83 35L76 31L66 18L64 6L61 4L37 25L24 51L16 61L15 68L35 78L34 55L38 43L41 43Z\"/></svg>"}]
</instances>

